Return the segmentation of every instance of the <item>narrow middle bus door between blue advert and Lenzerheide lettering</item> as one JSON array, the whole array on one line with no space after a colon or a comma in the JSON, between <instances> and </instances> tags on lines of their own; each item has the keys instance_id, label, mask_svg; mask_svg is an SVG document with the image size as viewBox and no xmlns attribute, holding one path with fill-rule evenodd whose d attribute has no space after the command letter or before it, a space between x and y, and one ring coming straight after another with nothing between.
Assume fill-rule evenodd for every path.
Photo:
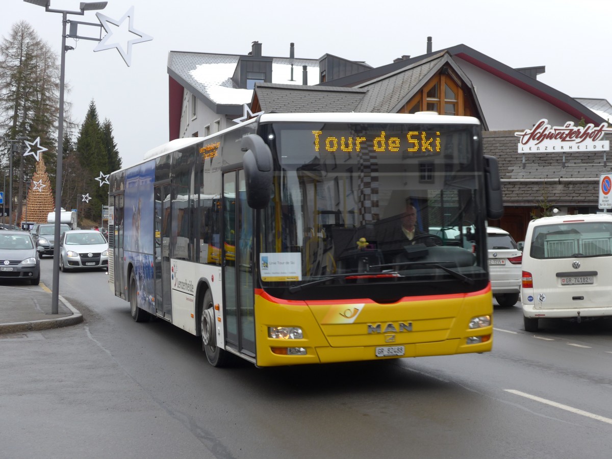
<instances>
[{"instance_id":1,"label":"narrow middle bus door between blue advert and Lenzerheide lettering","mask_svg":"<svg viewBox=\"0 0 612 459\"><path fill-rule=\"evenodd\" d=\"M155 312L172 318L170 272L170 184L155 187Z\"/></svg>"}]
</instances>

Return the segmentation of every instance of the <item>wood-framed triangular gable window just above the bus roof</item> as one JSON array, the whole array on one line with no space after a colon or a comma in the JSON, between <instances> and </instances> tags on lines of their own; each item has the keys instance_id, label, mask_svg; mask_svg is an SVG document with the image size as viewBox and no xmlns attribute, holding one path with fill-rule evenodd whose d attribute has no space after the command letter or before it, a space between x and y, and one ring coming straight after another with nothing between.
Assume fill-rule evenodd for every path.
<instances>
[{"instance_id":1,"label":"wood-framed triangular gable window just above the bus roof","mask_svg":"<svg viewBox=\"0 0 612 459\"><path fill-rule=\"evenodd\" d=\"M447 115L471 114L469 106L464 104L458 76L455 77L453 74L451 69L442 69L442 72L431 78L399 113L435 111Z\"/></svg>"}]
</instances>

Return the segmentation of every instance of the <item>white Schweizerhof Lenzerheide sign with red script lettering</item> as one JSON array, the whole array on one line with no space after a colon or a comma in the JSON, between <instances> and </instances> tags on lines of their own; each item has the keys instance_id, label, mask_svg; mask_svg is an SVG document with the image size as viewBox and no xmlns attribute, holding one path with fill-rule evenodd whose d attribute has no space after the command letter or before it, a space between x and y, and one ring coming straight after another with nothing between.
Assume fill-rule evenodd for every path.
<instances>
[{"instance_id":1,"label":"white Schweizerhof Lenzerheide sign with red script lettering","mask_svg":"<svg viewBox=\"0 0 612 459\"><path fill-rule=\"evenodd\" d=\"M515 132L519 138L518 152L575 152L608 151L610 141L603 140L606 133L612 133L607 123L595 127L587 124L575 126L568 121L563 126L551 127L547 119L540 119L532 129Z\"/></svg>"}]
</instances>

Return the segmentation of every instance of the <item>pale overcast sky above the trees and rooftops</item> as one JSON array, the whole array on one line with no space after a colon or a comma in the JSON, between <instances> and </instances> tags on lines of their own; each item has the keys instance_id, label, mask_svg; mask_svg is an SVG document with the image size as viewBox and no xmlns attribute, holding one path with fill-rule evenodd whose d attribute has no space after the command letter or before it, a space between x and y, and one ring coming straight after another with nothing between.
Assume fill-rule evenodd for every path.
<instances>
[{"instance_id":1,"label":"pale overcast sky above the trees and rooftops","mask_svg":"<svg viewBox=\"0 0 612 459\"><path fill-rule=\"evenodd\" d=\"M51 0L52 9L79 4ZM610 0L109 0L100 13L120 20L132 6L133 27L152 40L133 45L130 67L116 49L66 43L75 48L65 66L72 118L82 122L93 99L100 121L113 124L124 166L168 141L168 51L247 54L258 40L264 56L288 57L294 42L296 58L330 53L378 67L402 54L425 54L431 36L433 50L463 43L510 67L545 65L543 83L571 97L612 102ZM26 20L59 62L61 18L23 0L2 0L0 34ZM69 20L99 24L95 12ZM121 35L124 29L114 33L135 38ZM99 28L79 26L78 34L99 36Z\"/></svg>"}]
</instances>

